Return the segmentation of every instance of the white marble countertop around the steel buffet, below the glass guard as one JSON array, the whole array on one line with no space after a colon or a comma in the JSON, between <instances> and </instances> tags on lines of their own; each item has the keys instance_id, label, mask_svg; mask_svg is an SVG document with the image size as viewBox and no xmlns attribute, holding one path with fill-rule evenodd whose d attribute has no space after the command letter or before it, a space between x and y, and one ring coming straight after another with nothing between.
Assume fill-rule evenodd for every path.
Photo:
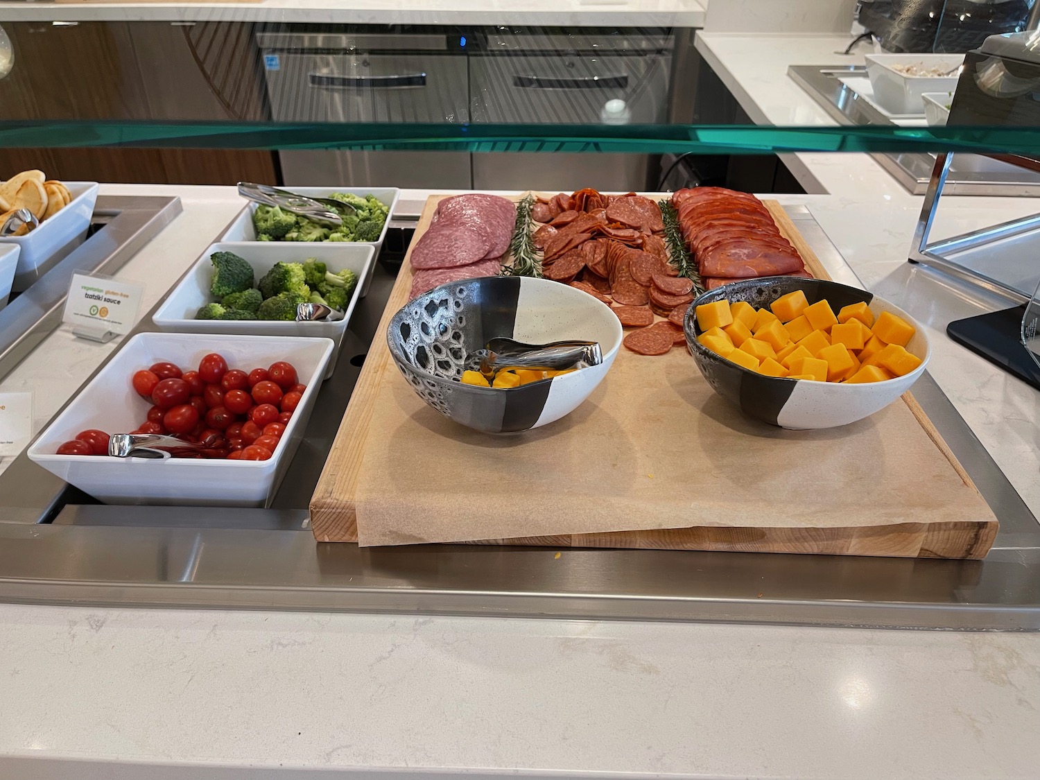
<instances>
[{"instance_id":1,"label":"white marble countertop around the steel buffet, below the glass guard","mask_svg":"<svg viewBox=\"0 0 1040 780\"><path fill-rule=\"evenodd\" d=\"M183 199L120 272L148 282L146 306L240 207L231 188L102 191ZM780 200L929 323L933 375L1040 511L1040 394L941 334L995 306L905 262L917 199ZM1009 207L1029 203L956 199L937 231ZM111 348L59 330L0 390L35 389L42 423ZM0 780L1010 780L1040 775L1037 733L1036 634L0 604Z\"/></svg>"}]
</instances>

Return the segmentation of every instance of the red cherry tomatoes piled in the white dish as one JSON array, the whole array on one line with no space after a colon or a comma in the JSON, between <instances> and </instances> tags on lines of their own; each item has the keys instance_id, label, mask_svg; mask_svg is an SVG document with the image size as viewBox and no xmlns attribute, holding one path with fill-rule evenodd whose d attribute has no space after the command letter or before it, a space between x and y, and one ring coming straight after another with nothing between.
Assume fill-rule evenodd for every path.
<instances>
[{"instance_id":1,"label":"red cherry tomatoes piled in the white dish","mask_svg":"<svg viewBox=\"0 0 1040 780\"><path fill-rule=\"evenodd\" d=\"M134 391L153 404L132 434L167 434L207 447L186 458L266 461L281 441L307 389L291 363L278 361L250 372L228 368L207 355L198 370L182 372L160 362L134 373ZM107 454L108 434L84 431L58 447L58 454Z\"/></svg>"}]
</instances>

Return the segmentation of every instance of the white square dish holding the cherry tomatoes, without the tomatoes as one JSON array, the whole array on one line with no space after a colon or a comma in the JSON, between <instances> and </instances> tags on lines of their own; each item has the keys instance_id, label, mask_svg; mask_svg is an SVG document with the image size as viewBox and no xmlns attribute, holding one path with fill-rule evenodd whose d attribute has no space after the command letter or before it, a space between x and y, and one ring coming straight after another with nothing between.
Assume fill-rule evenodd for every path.
<instances>
[{"instance_id":1,"label":"white square dish holding the cherry tomatoes, without the tomatoes","mask_svg":"<svg viewBox=\"0 0 1040 780\"><path fill-rule=\"evenodd\" d=\"M40 435L29 459L106 503L262 506L270 501L303 438L320 378L332 357L323 338L204 336L139 333L105 364ZM151 461L108 456L59 456L58 446L80 431L134 431L151 407L134 392L131 376L160 360L194 368L219 353L231 368L250 370L288 360L307 385L269 461L170 459Z\"/></svg>"}]
</instances>

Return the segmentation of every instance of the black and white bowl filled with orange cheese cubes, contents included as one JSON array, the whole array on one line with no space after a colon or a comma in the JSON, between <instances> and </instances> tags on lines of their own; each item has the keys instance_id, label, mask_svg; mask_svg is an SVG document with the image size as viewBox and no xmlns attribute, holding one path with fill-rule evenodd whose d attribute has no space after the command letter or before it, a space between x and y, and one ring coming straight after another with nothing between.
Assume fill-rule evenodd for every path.
<instances>
[{"instance_id":1,"label":"black and white bowl filled with orange cheese cubes, contents included","mask_svg":"<svg viewBox=\"0 0 1040 780\"><path fill-rule=\"evenodd\" d=\"M924 329L856 287L799 277L732 282L700 295L686 343L711 388L780 427L848 425L878 412L925 371Z\"/></svg>"}]
</instances>

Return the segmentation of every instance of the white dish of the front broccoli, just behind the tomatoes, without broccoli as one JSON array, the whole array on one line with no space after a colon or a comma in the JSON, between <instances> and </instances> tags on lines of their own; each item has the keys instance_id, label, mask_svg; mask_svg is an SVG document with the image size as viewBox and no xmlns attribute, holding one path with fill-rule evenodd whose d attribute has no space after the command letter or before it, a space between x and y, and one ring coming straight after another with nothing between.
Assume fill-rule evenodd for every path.
<instances>
[{"instance_id":1,"label":"white dish of the front broccoli, just behind the tomatoes, without broccoli","mask_svg":"<svg viewBox=\"0 0 1040 780\"><path fill-rule=\"evenodd\" d=\"M358 286L354 289L343 319L334 322L272 322L263 319L223 320L196 319L199 307L214 301L209 292L213 265L209 260L214 252L233 252L248 260L256 272L257 281L270 270L275 263L303 262L315 258L329 266L331 271L349 268L358 275ZM335 343L333 358L329 362L328 373L336 365L340 344L346 333L354 307L361 296L361 280L370 276L375 249L371 243L341 243L337 241L316 241L302 243L295 241L239 241L211 244L191 266L184 278L152 317L161 331L180 333L226 333L228 335L252 336L297 336L330 338ZM328 375L326 376L328 379Z\"/></svg>"}]
</instances>

